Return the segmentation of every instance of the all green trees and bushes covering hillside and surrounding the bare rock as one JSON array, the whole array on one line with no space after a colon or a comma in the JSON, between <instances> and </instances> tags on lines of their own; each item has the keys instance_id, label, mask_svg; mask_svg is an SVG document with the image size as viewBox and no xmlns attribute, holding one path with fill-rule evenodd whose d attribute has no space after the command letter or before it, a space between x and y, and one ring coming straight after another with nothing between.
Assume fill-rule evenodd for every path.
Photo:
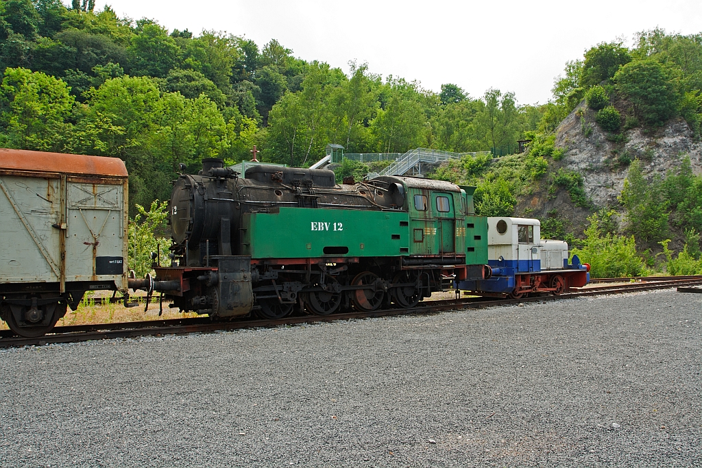
<instances>
[{"instance_id":1,"label":"all green trees and bushes covering hillside and surrounding the bare rock","mask_svg":"<svg viewBox=\"0 0 702 468\"><path fill-rule=\"evenodd\" d=\"M619 132L652 131L675 117L700 132L702 34L654 29L640 33L632 48L597 44L567 62L551 102L532 106L496 89L470 96L453 83L434 93L355 62L345 74L296 58L275 40L258 46L231 34L168 31L154 20L94 7L94 1L67 7L60 0L0 0L0 146L123 159L134 219L147 213L137 205L168 199L178 163L195 172L204 157L241 161L258 145L263 161L310 166L330 142L346 152L402 153L415 147L479 152L531 140L523 154L467 156L433 176L476 185L475 206L484 215L513 215L519 197L537 185L549 196L565 189L574 205L590 210L582 175L559 171L565 148L556 147L553 133L583 99L592 111L578 109L581 121L596 112L612 141L625 140ZM618 162L630 159L622 154ZM701 232L702 180L689 164L652 181L637 164L621 196L628 235L650 247L671 229ZM337 178L358 180L379 168L371 166L344 162ZM543 222L568 234L556 215ZM629 241L618 243L617 235L601 239L624 249ZM594 234L588 236L594 246Z\"/></svg>"}]
</instances>

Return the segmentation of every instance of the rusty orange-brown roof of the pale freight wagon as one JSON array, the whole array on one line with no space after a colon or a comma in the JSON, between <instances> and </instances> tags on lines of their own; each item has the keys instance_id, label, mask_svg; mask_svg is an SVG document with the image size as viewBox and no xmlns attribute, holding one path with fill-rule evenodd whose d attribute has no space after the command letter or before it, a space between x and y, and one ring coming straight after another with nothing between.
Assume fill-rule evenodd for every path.
<instances>
[{"instance_id":1,"label":"rusty orange-brown roof of the pale freight wagon","mask_svg":"<svg viewBox=\"0 0 702 468\"><path fill-rule=\"evenodd\" d=\"M37 173L114 175L127 177L119 158L0 148L0 169Z\"/></svg>"}]
</instances>

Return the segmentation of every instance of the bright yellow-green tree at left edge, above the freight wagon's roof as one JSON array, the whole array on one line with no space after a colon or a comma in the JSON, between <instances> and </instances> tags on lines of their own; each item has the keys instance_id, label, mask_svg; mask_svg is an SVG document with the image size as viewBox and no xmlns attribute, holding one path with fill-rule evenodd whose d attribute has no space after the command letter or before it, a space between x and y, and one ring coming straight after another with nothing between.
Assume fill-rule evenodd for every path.
<instances>
[{"instance_id":1,"label":"bright yellow-green tree at left edge, above the freight wagon's roof","mask_svg":"<svg viewBox=\"0 0 702 468\"><path fill-rule=\"evenodd\" d=\"M74 98L66 83L41 72L8 68L0 86L0 135L5 147L60 151Z\"/></svg>"}]
</instances>

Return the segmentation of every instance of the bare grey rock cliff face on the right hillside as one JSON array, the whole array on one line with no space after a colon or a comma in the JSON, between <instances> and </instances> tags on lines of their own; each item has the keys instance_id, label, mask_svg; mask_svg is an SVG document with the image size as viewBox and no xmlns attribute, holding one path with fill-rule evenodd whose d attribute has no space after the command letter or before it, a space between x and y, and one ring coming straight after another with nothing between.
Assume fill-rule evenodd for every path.
<instances>
[{"instance_id":1,"label":"bare grey rock cliff face on the right hillside","mask_svg":"<svg viewBox=\"0 0 702 468\"><path fill-rule=\"evenodd\" d=\"M682 119L673 119L650 134L633 128L624 137L621 142L607 140L607 133L595 123L595 112L584 103L557 128L556 146L566 149L560 163L583 175L585 193L596 206L618 204L629 160L640 159L644 174L653 177L674 170L687 155L694 173L702 173L702 145Z\"/></svg>"}]
</instances>

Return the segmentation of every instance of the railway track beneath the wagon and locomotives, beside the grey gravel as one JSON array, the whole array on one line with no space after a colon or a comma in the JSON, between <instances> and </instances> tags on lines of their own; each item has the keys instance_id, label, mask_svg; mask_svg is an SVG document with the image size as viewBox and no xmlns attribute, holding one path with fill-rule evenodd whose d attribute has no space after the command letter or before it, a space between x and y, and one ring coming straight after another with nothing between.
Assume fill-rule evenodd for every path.
<instances>
[{"instance_id":1,"label":"railway track beneath the wagon and locomotives, beside the grey gravel","mask_svg":"<svg viewBox=\"0 0 702 468\"><path fill-rule=\"evenodd\" d=\"M444 310L479 309L496 305L514 305L519 302L543 302L549 300L572 299L575 297L633 293L637 291L667 289L702 285L702 276L658 276L646 278L646 281L630 282L630 279L611 279L608 282L621 282L609 286L577 288L573 292L559 296L524 297L519 300L495 297L464 297L453 300L436 300L421 302L409 309L380 309L373 312L346 312L329 316L288 316L276 320L238 320L211 321L208 317L195 317L171 320L153 320L124 323L100 323L93 325L60 326L53 333L38 338L24 338L13 335L11 330L0 330L0 348L46 345L49 343L84 342L114 338L132 338L140 336L184 335L187 333L206 333L218 330L237 330L241 328L274 327L300 323L319 323L325 321L364 319L380 316L397 316L406 314L431 314ZM615 281L618 280L618 281ZM628 282L626 282L628 281ZM604 282L604 281L597 281ZM106 302L109 302L106 301Z\"/></svg>"}]
</instances>

